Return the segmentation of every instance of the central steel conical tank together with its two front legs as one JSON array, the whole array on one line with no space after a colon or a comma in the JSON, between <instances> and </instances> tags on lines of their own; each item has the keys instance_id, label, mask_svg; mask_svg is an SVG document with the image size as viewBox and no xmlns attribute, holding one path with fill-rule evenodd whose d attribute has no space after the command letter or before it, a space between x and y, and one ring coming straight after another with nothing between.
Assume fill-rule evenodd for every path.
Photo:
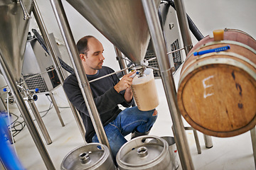
<instances>
[{"instance_id":1,"label":"central steel conical tank together with its two front legs","mask_svg":"<svg viewBox=\"0 0 256 170\"><path fill-rule=\"evenodd\" d=\"M78 50L75 47L75 41L70 26L68 25L63 5L60 0L50 0L50 2L53 6L53 11L63 35L65 45L67 46L70 60L73 62L73 68L78 77L78 84L80 85L82 96L90 113L90 118L92 118L92 124L96 130L96 134L99 137L100 142L110 148L102 123L100 122L99 114L97 113L97 108L93 102L90 84L86 79L85 72L82 71ZM160 60L159 66L162 68L161 78L164 80L164 87L167 94L167 100L169 101L171 115L174 115L172 116L172 120L175 122L174 126L176 127L175 130L177 131L177 138L179 141L177 147L183 149L183 152L179 152L179 154L181 154L180 156L182 156L181 159L184 160L181 161L181 163L184 165L185 169L193 169L183 124L181 118L178 117L180 114L178 114L176 108L176 98L174 95L176 89L174 88L174 82L171 79L172 73L171 68L169 67L169 60L162 60L161 58L165 58L167 54L166 50L163 50L165 45L164 43L161 43L159 48L155 47L158 43L156 42L156 39L164 42L161 28L159 31L159 18L155 17L157 16L156 10L159 8L160 1L75 0L68 2L134 63L134 69L142 69L142 67L145 67L146 65L144 56L149 43L149 28L151 28L151 35L157 35L157 38L154 36L152 40L158 62ZM147 5L150 5L151 8L149 9L149 6ZM180 6L177 6L177 8L179 7ZM150 21L153 20L153 18L154 21ZM152 26L150 23L153 23L155 26ZM157 28L156 34L153 33L153 27L155 29ZM190 38L190 36L187 38ZM186 46L185 50L187 51L189 45L184 45ZM161 51L161 55L159 55L159 51Z\"/></svg>"}]
</instances>

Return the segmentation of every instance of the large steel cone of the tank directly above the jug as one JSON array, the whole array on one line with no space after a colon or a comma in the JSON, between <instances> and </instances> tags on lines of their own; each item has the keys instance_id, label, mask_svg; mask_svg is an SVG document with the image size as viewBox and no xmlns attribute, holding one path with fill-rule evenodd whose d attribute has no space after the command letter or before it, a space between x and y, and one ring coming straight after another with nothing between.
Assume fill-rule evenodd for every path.
<instances>
[{"instance_id":1,"label":"large steel cone of the tank directly above the jug","mask_svg":"<svg viewBox=\"0 0 256 170\"><path fill-rule=\"evenodd\" d=\"M134 64L143 63L149 29L138 0L67 0ZM154 0L159 7L160 0Z\"/></svg>"}]
</instances>

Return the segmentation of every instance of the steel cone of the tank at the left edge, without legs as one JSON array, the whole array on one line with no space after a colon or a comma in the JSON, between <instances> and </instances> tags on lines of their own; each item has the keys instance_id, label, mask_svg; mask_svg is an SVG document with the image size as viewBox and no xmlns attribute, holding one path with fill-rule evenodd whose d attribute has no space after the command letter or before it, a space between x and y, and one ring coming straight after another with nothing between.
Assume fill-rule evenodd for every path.
<instances>
[{"instance_id":1,"label":"steel cone of the tank at the left edge, without legs","mask_svg":"<svg viewBox=\"0 0 256 170\"><path fill-rule=\"evenodd\" d=\"M32 1L23 0L28 13L32 10ZM29 20L24 20L21 1L0 1L0 53L1 59L9 67L16 81L21 79L23 54L28 36Z\"/></svg>"}]
</instances>

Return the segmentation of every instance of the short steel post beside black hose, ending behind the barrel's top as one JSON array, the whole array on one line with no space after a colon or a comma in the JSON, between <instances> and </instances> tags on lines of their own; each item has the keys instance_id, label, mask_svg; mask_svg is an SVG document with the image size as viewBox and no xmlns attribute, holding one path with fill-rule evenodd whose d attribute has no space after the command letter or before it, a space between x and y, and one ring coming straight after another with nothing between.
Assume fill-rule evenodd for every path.
<instances>
[{"instance_id":1,"label":"short steel post beside black hose, ending behind the barrel's top","mask_svg":"<svg viewBox=\"0 0 256 170\"><path fill-rule=\"evenodd\" d=\"M192 49L193 44L191 40L191 35L188 27L188 18L186 17L186 10L184 7L183 0L174 0L176 6L176 13L178 18L178 24L181 29L181 37L183 40L183 45L185 48L186 55Z\"/></svg>"}]
</instances>

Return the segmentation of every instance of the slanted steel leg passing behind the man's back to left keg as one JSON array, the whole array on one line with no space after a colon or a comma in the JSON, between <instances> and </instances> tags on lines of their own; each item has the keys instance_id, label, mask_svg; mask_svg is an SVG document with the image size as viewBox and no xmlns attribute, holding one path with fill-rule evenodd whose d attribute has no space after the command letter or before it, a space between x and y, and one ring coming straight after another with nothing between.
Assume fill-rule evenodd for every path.
<instances>
[{"instance_id":1,"label":"slanted steel leg passing behind the man's back to left keg","mask_svg":"<svg viewBox=\"0 0 256 170\"><path fill-rule=\"evenodd\" d=\"M52 42L50 41L48 31L47 31L46 26L43 22L43 17L41 16L41 13L39 11L38 5L36 4L35 0L33 0L33 14L36 18L36 23L38 23L38 27L41 30L41 33L43 35L43 39L45 40L46 45L49 49L51 59L53 60L53 65L56 68L56 72L57 72L58 77L60 79L60 84L63 86L64 79L65 79L64 74L63 74L62 69L60 69L60 62L58 61L58 56L57 56L55 50L53 49L53 45L52 45ZM67 96L66 96L66 98L67 98ZM71 109L71 111L72 111L72 113L75 117L75 121L78 124L78 128L79 128L80 133L82 135L82 139L85 141L85 128L82 125L82 122L79 118L78 112L76 111L75 107L73 106L72 103L70 103L69 100L68 100L68 104L70 105L70 109ZM87 142L85 141L85 143L87 143Z\"/></svg>"}]
</instances>

